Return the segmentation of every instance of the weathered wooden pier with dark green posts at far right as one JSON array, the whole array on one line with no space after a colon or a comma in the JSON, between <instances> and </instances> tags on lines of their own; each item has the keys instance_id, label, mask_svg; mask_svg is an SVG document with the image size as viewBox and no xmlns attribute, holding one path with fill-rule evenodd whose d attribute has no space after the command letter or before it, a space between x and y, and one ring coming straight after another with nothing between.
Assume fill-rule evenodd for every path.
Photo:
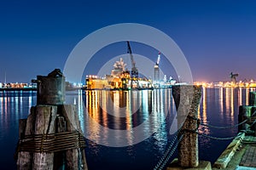
<instances>
[{"instance_id":1,"label":"weathered wooden pier with dark green posts at far right","mask_svg":"<svg viewBox=\"0 0 256 170\"><path fill-rule=\"evenodd\" d=\"M256 169L256 92L250 92L249 105L239 108L239 133L214 163L213 169Z\"/></svg>"}]
</instances>

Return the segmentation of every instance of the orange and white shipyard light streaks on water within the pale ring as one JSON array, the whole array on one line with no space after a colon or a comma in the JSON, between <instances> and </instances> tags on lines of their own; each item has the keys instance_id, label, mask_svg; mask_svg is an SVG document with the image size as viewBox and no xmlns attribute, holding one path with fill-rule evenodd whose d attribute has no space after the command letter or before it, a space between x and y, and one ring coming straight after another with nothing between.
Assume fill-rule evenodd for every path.
<instances>
[{"instance_id":1,"label":"orange and white shipyard light streaks on water within the pale ring","mask_svg":"<svg viewBox=\"0 0 256 170\"><path fill-rule=\"evenodd\" d=\"M79 111L79 119L84 124L84 133L94 142L108 145L114 139L115 143L126 140L130 145L147 139L166 126L166 115L172 105L171 89L89 90L85 91L84 103L79 102L79 108L84 107L84 111ZM120 132L125 133L125 137L119 136ZM166 136L165 131L158 133L155 139L167 140Z\"/></svg>"}]
</instances>

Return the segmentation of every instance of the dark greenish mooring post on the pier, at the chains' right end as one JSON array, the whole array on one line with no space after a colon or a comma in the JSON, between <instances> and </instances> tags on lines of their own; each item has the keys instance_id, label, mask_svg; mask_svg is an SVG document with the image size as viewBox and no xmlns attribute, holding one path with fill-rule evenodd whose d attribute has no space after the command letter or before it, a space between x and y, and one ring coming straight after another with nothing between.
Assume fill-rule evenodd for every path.
<instances>
[{"instance_id":1,"label":"dark greenish mooring post on the pier, at the chains' right end","mask_svg":"<svg viewBox=\"0 0 256 170\"><path fill-rule=\"evenodd\" d=\"M256 136L256 92L250 92L249 105L240 105L238 122L244 122L239 125L239 132L245 130L246 133Z\"/></svg>"}]
</instances>

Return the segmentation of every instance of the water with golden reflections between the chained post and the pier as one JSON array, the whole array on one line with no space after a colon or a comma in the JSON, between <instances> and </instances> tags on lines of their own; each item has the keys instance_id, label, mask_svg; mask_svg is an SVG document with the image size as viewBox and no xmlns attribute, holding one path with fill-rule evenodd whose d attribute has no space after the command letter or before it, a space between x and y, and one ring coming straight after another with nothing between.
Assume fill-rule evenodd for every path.
<instances>
[{"instance_id":1,"label":"water with golden reflections between the chained post and the pier","mask_svg":"<svg viewBox=\"0 0 256 170\"><path fill-rule=\"evenodd\" d=\"M204 88L198 117L201 117L202 122L218 127L235 125L238 123L239 105L248 105L249 92L254 90L255 88ZM237 133L237 128L201 126L199 130L200 133L213 137L231 137ZM214 162L229 143L230 140L199 136L201 159Z\"/></svg>"}]
</instances>

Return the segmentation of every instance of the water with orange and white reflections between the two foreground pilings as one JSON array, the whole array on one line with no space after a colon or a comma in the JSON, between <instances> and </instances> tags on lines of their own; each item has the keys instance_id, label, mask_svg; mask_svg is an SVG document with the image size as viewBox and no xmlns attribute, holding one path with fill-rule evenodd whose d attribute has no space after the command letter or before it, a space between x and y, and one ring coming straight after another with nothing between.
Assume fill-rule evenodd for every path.
<instances>
[{"instance_id":1,"label":"water with orange and white reflections between the two foreground pilings","mask_svg":"<svg viewBox=\"0 0 256 170\"><path fill-rule=\"evenodd\" d=\"M85 123L82 126L83 131L86 128L90 129L89 139L93 139L93 141L88 140L86 148L90 169L152 169L166 150L166 145L171 139L168 132L172 124L170 117L166 119L166 113L168 113L168 108L171 110L169 112L172 112L168 116L173 118L176 113L171 89L154 91L93 90L86 91L84 95L79 93L75 99L69 98L73 98L72 95L68 95L67 101L71 104L74 102L78 104L79 120L82 125ZM113 108L109 110L108 107ZM108 113L108 111L113 112ZM107 128L102 130L99 126L88 123L89 119ZM134 129L143 122L143 132L134 132ZM126 130L125 139L130 145L113 148L96 144L102 143L102 141L108 144L110 135L108 128ZM151 131L155 131L155 133L151 135ZM137 135L143 135L146 139L139 144L133 144L138 138ZM118 133L113 138L116 142L122 140ZM108 162L108 167L105 165L106 162ZM143 165L142 162L148 163ZM120 167L122 163L127 166Z\"/></svg>"}]
</instances>

